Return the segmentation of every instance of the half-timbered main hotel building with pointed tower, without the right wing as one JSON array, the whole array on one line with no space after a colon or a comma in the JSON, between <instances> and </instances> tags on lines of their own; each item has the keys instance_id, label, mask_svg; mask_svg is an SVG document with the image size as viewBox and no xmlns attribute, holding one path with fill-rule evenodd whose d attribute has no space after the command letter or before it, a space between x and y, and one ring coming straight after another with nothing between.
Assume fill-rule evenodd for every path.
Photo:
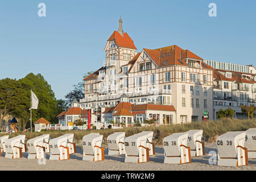
<instances>
[{"instance_id":1,"label":"half-timbered main hotel building with pointed tower, without the right wing","mask_svg":"<svg viewBox=\"0 0 256 182\"><path fill-rule=\"evenodd\" d=\"M202 121L204 110L213 119L214 68L195 53L176 45L137 52L133 40L123 32L121 18L118 31L107 40L104 50L105 61L84 79L85 98L80 100L81 109L97 108L98 121L114 120L115 112L105 110L120 102L132 105L125 109L134 115L135 121L156 119L159 124ZM122 98L123 94L127 97ZM133 110L135 105L144 110L141 113ZM154 106L160 114L147 109ZM162 106L171 106L168 111L172 113L167 116L164 109L159 111L167 109Z\"/></svg>"}]
</instances>

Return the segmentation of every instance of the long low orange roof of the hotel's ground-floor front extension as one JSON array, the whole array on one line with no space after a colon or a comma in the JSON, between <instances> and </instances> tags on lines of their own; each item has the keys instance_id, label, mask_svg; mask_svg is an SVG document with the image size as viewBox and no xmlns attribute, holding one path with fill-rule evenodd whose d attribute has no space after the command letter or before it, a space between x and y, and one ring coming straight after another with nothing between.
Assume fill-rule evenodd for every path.
<instances>
[{"instance_id":1,"label":"long low orange roof of the hotel's ground-floor front extension","mask_svg":"<svg viewBox=\"0 0 256 182\"><path fill-rule=\"evenodd\" d=\"M157 105L157 104L139 104L133 105L132 111L138 110L165 110L165 111L176 111L172 105Z\"/></svg>"}]
</instances>

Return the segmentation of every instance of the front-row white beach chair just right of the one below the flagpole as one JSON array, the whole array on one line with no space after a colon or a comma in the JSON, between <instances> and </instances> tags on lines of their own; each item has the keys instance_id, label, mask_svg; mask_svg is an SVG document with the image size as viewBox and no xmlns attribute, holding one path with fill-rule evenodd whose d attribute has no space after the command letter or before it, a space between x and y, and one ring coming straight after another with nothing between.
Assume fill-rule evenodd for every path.
<instances>
[{"instance_id":1,"label":"front-row white beach chair just right of the one below the flagpole","mask_svg":"<svg viewBox=\"0 0 256 182\"><path fill-rule=\"evenodd\" d=\"M60 136L49 140L50 157L49 160L69 159L68 137Z\"/></svg>"}]
</instances>

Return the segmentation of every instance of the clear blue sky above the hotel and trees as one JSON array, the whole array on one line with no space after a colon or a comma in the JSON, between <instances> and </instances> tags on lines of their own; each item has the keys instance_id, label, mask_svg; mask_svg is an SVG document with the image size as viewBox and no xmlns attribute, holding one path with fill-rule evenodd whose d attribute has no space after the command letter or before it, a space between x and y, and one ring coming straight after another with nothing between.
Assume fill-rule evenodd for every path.
<instances>
[{"instance_id":1,"label":"clear blue sky above the hotel and trees","mask_svg":"<svg viewBox=\"0 0 256 182\"><path fill-rule=\"evenodd\" d=\"M40 2L46 17L38 16ZM212 2L217 17L208 15ZM138 52L176 44L204 59L254 64L255 12L255 0L1 1L0 78L41 73L64 98L85 72L103 65L120 14Z\"/></svg>"}]
</instances>

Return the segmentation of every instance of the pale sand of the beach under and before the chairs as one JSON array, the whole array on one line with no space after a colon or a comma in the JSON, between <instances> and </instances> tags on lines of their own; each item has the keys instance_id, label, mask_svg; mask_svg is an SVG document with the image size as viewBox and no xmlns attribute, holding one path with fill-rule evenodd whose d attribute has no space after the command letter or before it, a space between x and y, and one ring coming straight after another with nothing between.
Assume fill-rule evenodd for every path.
<instances>
[{"instance_id":1,"label":"pale sand of the beach under and before the chairs","mask_svg":"<svg viewBox=\"0 0 256 182\"><path fill-rule=\"evenodd\" d=\"M164 164L164 149L163 146L156 146L156 155L150 156L150 162L147 163L125 163L125 155L108 156L108 147L105 146L105 160L100 162L82 161L81 144L77 144L77 153L71 154L69 160L49 160L49 154L46 155L46 164L39 164L38 160L27 159L27 153L23 153L20 159L6 159L5 153L0 156L0 171L3 170L25 170L25 171L39 171L39 170L75 170L75 171L140 171L140 170L189 170L189 171L203 171L203 170L256 170L256 159L249 159L248 166L242 167L220 167L209 164L209 151L216 151L216 143L205 144L205 156L192 157L192 162L188 164Z\"/></svg>"}]
</instances>

